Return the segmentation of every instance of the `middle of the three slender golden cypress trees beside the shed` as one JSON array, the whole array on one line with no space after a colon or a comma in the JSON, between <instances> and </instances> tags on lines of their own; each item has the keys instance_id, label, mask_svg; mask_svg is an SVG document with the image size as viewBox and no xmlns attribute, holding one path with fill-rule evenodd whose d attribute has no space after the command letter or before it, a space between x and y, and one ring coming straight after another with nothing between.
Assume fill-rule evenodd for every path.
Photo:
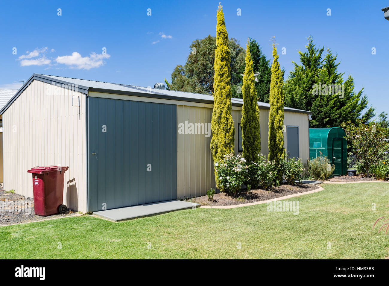
<instances>
[{"instance_id":1,"label":"middle of the three slender golden cypress trees beside the shed","mask_svg":"<svg viewBox=\"0 0 389 286\"><path fill-rule=\"evenodd\" d=\"M257 103L257 92L255 89L255 77L253 61L251 59L249 44L246 47L246 67L243 75L243 107L242 119L242 156L247 163L257 162L261 151L261 137L259 132L259 109ZM255 187L255 186L253 186Z\"/></svg>"}]
</instances>

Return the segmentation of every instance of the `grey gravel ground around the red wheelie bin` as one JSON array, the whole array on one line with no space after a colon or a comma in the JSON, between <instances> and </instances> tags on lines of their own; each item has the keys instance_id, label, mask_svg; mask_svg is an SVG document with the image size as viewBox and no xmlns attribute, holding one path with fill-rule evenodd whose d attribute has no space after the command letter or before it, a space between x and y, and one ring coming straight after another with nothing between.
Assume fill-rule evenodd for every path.
<instances>
[{"instance_id":1,"label":"grey gravel ground around the red wheelie bin","mask_svg":"<svg viewBox=\"0 0 389 286\"><path fill-rule=\"evenodd\" d=\"M34 200L0 188L0 225L15 225L42 219L63 218L76 212L68 209L65 214L37 216L34 213Z\"/></svg>"}]
</instances>

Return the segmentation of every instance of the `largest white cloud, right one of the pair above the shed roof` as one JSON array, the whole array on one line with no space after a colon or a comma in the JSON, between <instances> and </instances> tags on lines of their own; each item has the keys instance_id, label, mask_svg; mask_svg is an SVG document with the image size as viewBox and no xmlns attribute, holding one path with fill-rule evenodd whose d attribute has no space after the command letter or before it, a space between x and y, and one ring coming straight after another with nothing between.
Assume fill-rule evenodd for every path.
<instances>
[{"instance_id":1,"label":"largest white cloud, right one of the pair above the shed roof","mask_svg":"<svg viewBox=\"0 0 389 286\"><path fill-rule=\"evenodd\" d=\"M81 54L73 52L70 56L58 56L55 61L64 65L70 66L70 68L85 69L98 68L104 65L103 59L109 58L109 54L96 54L91 53L89 56L82 57Z\"/></svg>"}]
</instances>

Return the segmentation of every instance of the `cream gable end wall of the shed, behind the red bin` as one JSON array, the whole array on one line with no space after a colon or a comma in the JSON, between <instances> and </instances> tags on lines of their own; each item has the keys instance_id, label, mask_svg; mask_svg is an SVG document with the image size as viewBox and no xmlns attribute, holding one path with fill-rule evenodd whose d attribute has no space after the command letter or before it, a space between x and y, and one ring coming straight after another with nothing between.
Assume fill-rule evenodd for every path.
<instances>
[{"instance_id":1,"label":"cream gable end wall of the shed, behind the red bin","mask_svg":"<svg viewBox=\"0 0 389 286\"><path fill-rule=\"evenodd\" d=\"M86 211L86 95L34 80L4 112L3 126L4 189L32 198L28 169L69 166L63 202Z\"/></svg>"}]
</instances>

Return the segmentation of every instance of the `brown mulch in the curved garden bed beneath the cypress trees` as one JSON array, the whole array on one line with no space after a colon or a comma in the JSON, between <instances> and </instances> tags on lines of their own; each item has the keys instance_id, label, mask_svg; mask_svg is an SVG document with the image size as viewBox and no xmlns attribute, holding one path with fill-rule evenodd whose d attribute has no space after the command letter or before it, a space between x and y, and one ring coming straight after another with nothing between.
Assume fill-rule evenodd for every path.
<instances>
[{"instance_id":1,"label":"brown mulch in the curved garden bed beneath the cypress trees","mask_svg":"<svg viewBox=\"0 0 389 286\"><path fill-rule=\"evenodd\" d=\"M218 193L214 195L212 202L208 200L207 196L191 198L187 199L187 201L210 206L239 205L272 200L274 198L284 197L287 195L304 193L317 188L319 187L313 184L296 184L294 186L282 184L278 188L270 188L270 190L252 189L250 193L242 191L235 197L228 193Z\"/></svg>"}]
</instances>

